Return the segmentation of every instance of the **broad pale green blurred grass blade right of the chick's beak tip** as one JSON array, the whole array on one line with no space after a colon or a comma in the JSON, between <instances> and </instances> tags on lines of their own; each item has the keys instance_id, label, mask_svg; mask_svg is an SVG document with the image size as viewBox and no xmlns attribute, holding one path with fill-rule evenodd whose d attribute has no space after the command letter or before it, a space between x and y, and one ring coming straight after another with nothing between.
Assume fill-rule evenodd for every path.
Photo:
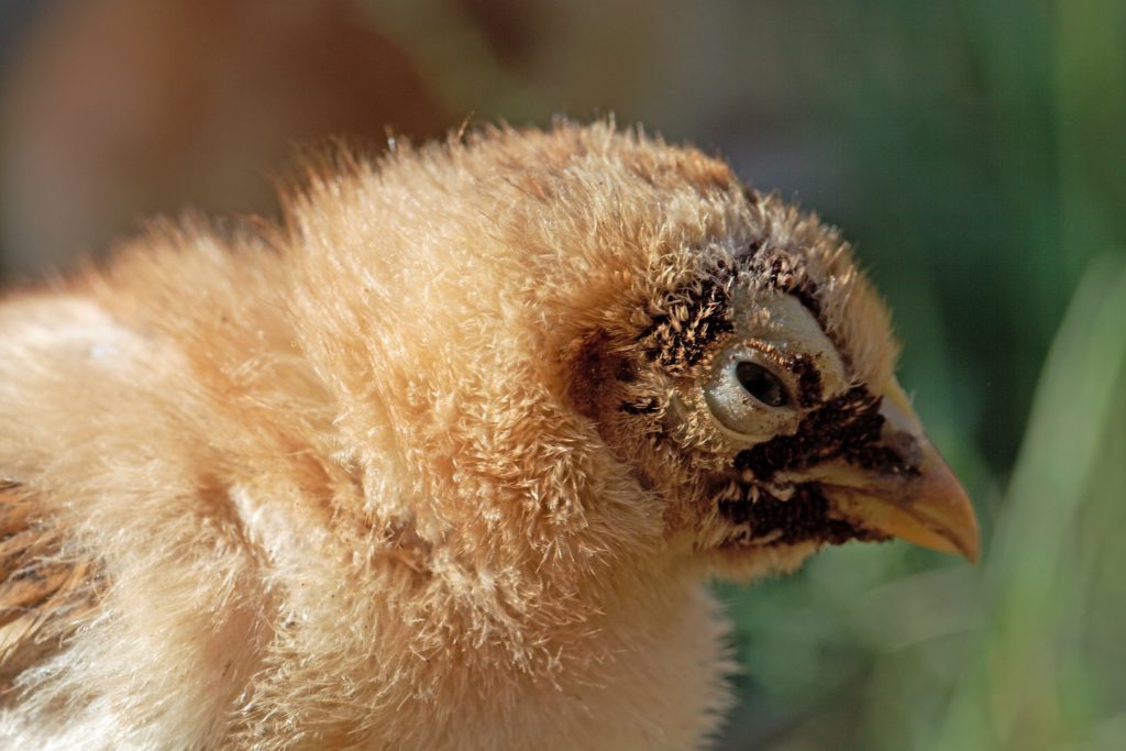
<instances>
[{"instance_id":1,"label":"broad pale green blurred grass blade right of the chick's beak tip","mask_svg":"<svg viewBox=\"0 0 1126 751\"><path fill-rule=\"evenodd\" d=\"M1085 704L1067 695L1084 682L1067 670L1076 654L1092 656L1082 643L1084 614L1118 597L1096 587L1088 564L1100 546L1120 546L1126 536L1120 483L1107 480L1124 457L1105 450L1117 446L1108 437L1126 420L1123 394L1126 267L1108 258L1084 275L1048 355L986 556L988 625L935 748L1061 749L1108 718L1097 689ZM1084 525L1091 518L1118 528L1092 533ZM1126 631L1126 611L1111 615Z\"/></svg>"}]
</instances>

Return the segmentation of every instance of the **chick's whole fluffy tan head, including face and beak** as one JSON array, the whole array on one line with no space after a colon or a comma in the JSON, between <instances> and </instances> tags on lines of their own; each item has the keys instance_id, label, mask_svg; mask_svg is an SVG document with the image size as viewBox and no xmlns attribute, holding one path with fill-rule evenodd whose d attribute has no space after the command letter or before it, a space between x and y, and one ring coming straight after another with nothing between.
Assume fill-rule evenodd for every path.
<instances>
[{"instance_id":1,"label":"chick's whole fluffy tan head, including face and beak","mask_svg":"<svg viewBox=\"0 0 1126 751\"><path fill-rule=\"evenodd\" d=\"M490 423L488 440L448 450L463 497L488 475L522 494L528 519L553 520L542 538L579 525L589 548L605 543L599 529L652 534L655 519L668 554L723 575L790 570L851 539L976 555L969 501L895 379L887 310L850 248L726 163L610 124L561 123L486 129L392 157L347 195L340 185L320 189L333 214L296 215L313 256L334 259L320 266L340 276L355 263L345 276L366 279L355 320L384 372L352 395L373 382L447 392L412 408L413 420L461 415L431 424L429 458L456 426ZM315 207L316 193L298 205ZM378 252L349 240L363 232L325 230L355 227L339 212L381 202L397 229L381 227ZM549 482L530 481L537 472ZM632 519L616 531L599 509L607 498ZM462 508L461 534L508 513Z\"/></svg>"}]
</instances>

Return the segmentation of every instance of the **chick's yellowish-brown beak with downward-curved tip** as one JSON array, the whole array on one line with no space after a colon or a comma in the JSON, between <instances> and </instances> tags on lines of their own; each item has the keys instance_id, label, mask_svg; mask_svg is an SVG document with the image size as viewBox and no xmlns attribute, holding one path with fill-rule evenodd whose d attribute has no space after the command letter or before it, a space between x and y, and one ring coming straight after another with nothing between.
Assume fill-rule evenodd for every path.
<instances>
[{"instance_id":1,"label":"chick's yellowish-brown beak with downward-curved tip","mask_svg":"<svg viewBox=\"0 0 1126 751\"><path fill-rule=\"evenodd\" d=\"M977 560L978 533L969 497L927 438L911 402L892 382L884 393L882 448L910 459L901 467L860 468L833 464L819 480L833 515L864 529Z\"/></svg>"}]
</instances>

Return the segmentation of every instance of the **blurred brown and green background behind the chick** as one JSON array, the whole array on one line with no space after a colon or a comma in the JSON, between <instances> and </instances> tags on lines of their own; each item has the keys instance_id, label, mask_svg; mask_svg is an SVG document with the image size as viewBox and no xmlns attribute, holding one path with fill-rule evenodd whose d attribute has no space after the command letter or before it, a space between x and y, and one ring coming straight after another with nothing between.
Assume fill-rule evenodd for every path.
<instances>
[{"instance_id":1,"label":"blurred brown and green background behind the chick","mask_svg":"<svg viewBox=\"0 0 1126 751\"><path fill-rule=\"evenodd\" d=\"M975 499L720 591L722 749L1126 748L1126 2L5 0L7 280L153 212L270 212L295 145L614 113L846 230Z\"/></svg>"}]
</instances>

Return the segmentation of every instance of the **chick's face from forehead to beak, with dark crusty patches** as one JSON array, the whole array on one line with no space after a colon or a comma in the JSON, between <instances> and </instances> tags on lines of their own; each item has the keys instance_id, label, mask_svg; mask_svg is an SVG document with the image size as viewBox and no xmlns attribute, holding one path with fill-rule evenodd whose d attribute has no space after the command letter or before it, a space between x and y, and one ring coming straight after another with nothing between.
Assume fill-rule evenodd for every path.
<instances>
[{"instance_id":1,"label":"chick's face from forehead to beak, with dark crusty patches","mask_svg":"<svg viewBox=\"0 0 1126 751\"><path fill-rule=\"evenodd\" d=\"M777 198L721 193L720 229L680 234L692 270L624 301L610 318L631 325L590 339L579 368L670 537L735 576L852 539L974 560L969 500L894 377L886 309L848 245Z\"/></svg>"}]
</instances>

